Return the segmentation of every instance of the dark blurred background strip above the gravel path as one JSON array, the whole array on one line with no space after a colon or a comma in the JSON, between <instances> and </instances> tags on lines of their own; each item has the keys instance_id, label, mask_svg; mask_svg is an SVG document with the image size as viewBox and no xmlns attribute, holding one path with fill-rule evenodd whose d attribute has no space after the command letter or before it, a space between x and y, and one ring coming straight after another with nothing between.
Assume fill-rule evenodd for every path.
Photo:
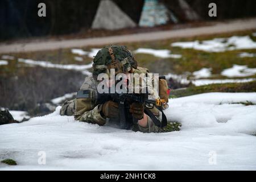
<instances>
[{"instance_id":1,"label":"dark blurred background strip above the gravel path","mask_svg":"<svg viewBox=\"0 0 256 182\"><path fill-rule=\"evenodd\" d=\"M47 7L46 18L36 16L38 4L41 2L45 3ZM78 32L86 34L81 35L85 37L107 35L106 32L97 32L98 34L92 32L97 27L95 23L93 24L93 21L96 18L100 2L100 0L2 0L0 2L0 40L30 38L32 36L67 35ZM208 16L208 5L212 2L217 5L217 17ZM129 16L131 22L133 22L123 27L113 27L113 29L127 27L135 27L137 29L138 27L153 27L163 24L172 25L199 20L246 18L256 15L255 1L253 0L159 0L146 2L144 0L112 0L112 3ZM109 4L109 2L106 2L106 4ZM143 10L152 8L158 10L159 19L155 20L155 22L154 20L143 22ZM168 11L168 15L166 15L165 11ZM152 14L154 13L147 13L148 16L152 16ZM156 16L156 13L153 16ZM156 17L151 18L154 19ZM146 19L150 19L150 17ZM108 23L106 22L105 24ZM98 28L109 29L107 26L104 27L104 24L98 26Z\"/></svg>"}]
</instances>

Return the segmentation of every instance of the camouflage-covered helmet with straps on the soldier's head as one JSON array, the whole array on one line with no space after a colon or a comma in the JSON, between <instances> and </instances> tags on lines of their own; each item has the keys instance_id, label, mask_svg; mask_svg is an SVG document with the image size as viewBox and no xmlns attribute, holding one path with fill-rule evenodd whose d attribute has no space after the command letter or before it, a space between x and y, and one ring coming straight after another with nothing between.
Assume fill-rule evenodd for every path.
<instances>
[{"instance_id":1,"label":"camouflage-covered helmet with straps on the soldier's head","mask_svg":"<svg viewBox=\"0 0 256 182\"><path fill-rule=\"evenodd\" d=\"M98 51L93 59L93 76L109 73L110 69L117 73L127 73L132 68L137 69L137 61L126 46L105 46Z\"/></svg>"}]
</instances>

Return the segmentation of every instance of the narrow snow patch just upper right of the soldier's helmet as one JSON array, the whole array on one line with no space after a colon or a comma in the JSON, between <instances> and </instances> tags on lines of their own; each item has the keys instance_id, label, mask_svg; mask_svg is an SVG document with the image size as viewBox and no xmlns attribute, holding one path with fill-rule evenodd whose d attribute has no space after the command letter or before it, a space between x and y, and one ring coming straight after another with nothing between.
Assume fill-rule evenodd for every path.
<instances>
[{"instance_id":1,"label":"narrow snow patch just upper right of the soldier's helmet","mask_svg":"<svg viewBox=\"0 0 256 182\"><path fill-rule=\"evenodd\" d=\"M134 53L146 53L150 55L154 55L155 57L161 57L161 58L175 58L179 59L181 58L181 55L175 55L171 54L171 51L168 49L150 49L150 48L138 48L134 51Z\"/></svg>"}]
</instances>

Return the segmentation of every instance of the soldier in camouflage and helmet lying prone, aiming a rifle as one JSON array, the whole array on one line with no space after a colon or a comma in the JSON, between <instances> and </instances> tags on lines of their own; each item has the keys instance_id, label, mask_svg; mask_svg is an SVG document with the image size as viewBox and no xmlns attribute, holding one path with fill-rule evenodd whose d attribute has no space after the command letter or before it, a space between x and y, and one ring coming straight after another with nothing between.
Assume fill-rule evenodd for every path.
<instances>
[{"instance_id":1,"label":"soldier in camouflage and helmet lying prone, aiming a rifle","mask_svg":"<svg viewBox=\"0 0 256 182\"><path fill-rule=\"evenodd\" d=\"M61 107L61 115L74 115L75 119L82 122L95 123L100 126L106 121L118 121L118 104L114 101L106 101L104 104L96 104L97 85L100 81L97 76L100 73L110 73L109 65L113 61L119 61L122 73L146 73L146 68L137 66L137 61L132 53L125 46L105 46L93 59L93 74L85 78L84 83L77 92L75 100L65 101ZM159 98L158 93L154 92L154 98ZM150 108L158 121L162 122L162 113L156 107ZM143 133L159 133L163 129L156 126L152 119L144 113L144 105L133 102L130 105L130 113L134 118L138 119L138 123L134 124L134 131L142 131Z\"/></svg>"}]
</instances>

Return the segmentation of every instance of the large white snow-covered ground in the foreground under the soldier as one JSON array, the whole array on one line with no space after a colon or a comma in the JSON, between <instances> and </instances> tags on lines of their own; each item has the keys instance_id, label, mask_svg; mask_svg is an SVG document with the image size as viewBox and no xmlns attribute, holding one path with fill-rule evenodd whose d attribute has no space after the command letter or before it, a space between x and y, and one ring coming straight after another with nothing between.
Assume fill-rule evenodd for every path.
<instances>
[{"instance_id":1,"label":"large white snow-covered ground in the foreground under the soldier","mask_svg":"<svg viewBox=\"0 0 256 182\"><path fill-rule=\"evenodd\" d=\"M256 93L207 93L170 100L181 131L144 134L52 114L0 126L0 169L255 170ZM46 164L40 165L44 161ZM38 163L39 162L39 163ZM42 164L42 163L41 163Z\"/></svg>"}]
</instances>

